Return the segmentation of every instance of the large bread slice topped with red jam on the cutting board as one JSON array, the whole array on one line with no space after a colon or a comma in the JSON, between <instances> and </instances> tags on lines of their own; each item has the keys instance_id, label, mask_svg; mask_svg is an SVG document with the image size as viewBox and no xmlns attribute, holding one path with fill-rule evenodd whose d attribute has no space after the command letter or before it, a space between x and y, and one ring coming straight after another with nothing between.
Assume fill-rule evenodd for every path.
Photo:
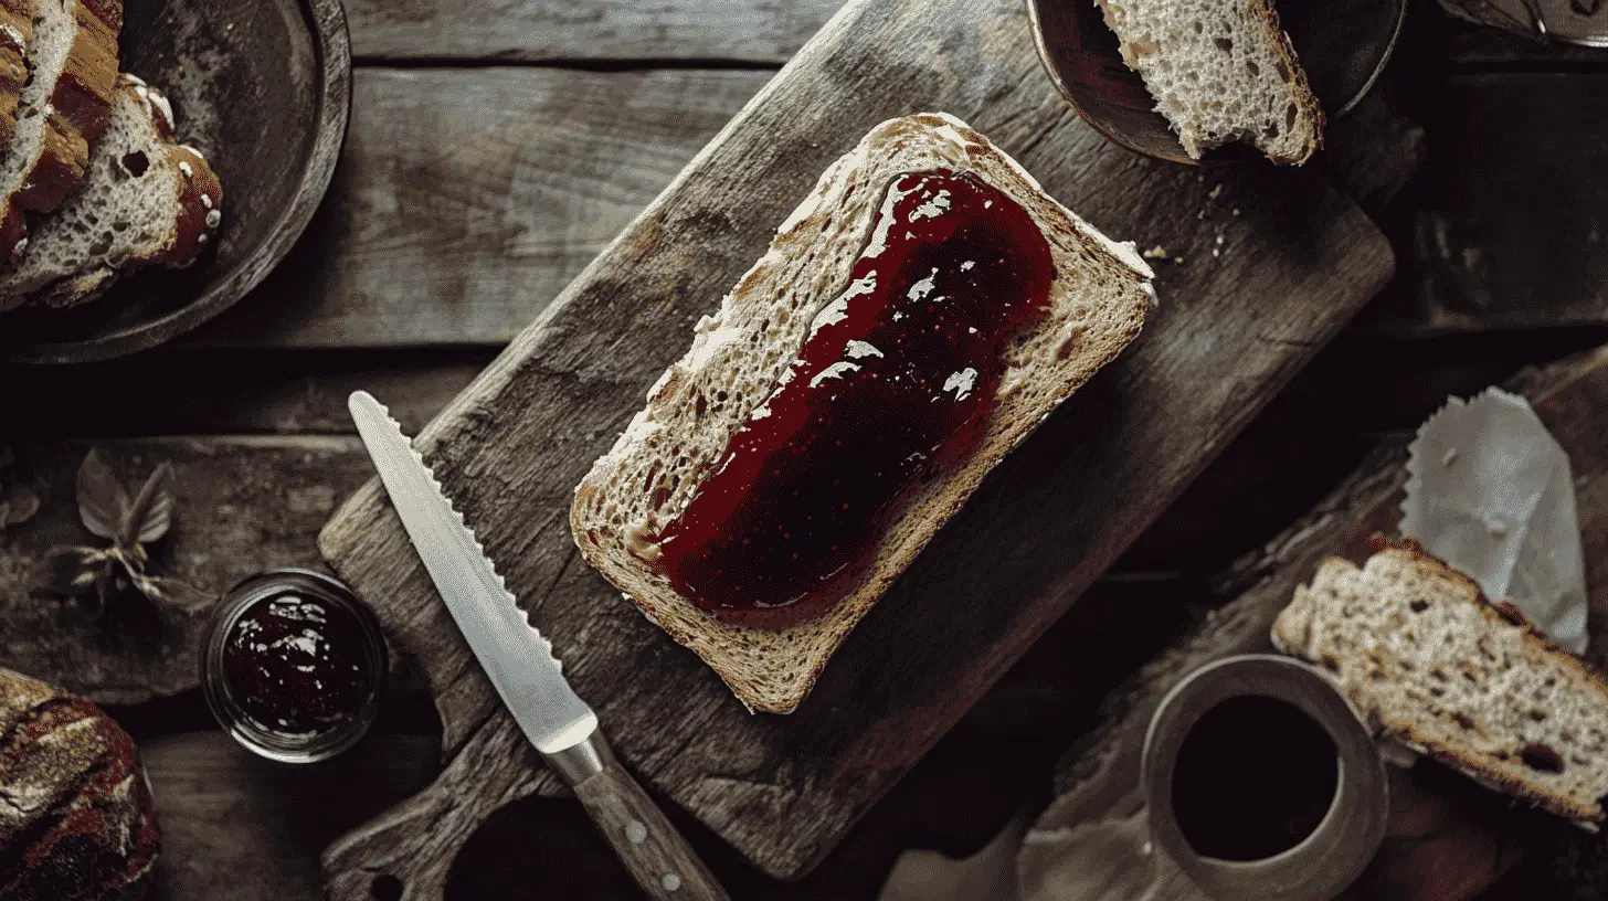
<instances>
[{"instance_id":1,"label":"large bread slice topped with red jam on the cutting board","mask_svg":"<svg viewBox=\"0 0 1608 901\"><path fill-rule=\"evenodd\" d=\"M1003 219L991 222L991 216ZM946 228L949 238L939 245L909 245L917 232ZM958 243L942 243L950 240ZM976 248L987 249L971 253ZM745 705L788 713L987 471L1138 335L1155 304L1151 277L1132 245L1100 235L958 119L921 114L883 122L820 177L781 224L770 251L717 312L703 317L691 349L650 389L646 409L593 465L571 508L576 544L643 615L703 656ZM1037 301L1018 296L1026 285L1042 288L1032 294ZM963 315L955 307L963 302L1005 304L1010 315L1024 312L1013 304L1039 304L1039 312L999 331L946 319ZM868 317L886 327L881 336L839 335ZM928 341L939 328L954 335L954 346L991 349L934 368L933 360L952 349ZM835 344L823 348L828 338ZM897 405L917 378L917 405ZM809 454L823 455L781 450L764 465L745 457L740 446L751 438L804 422L794 401L806 386L823 388L806 402L825 404L827 420L860 423L836 436L852 452L835 455L843 442L830 434L798 433L781 441L809 442ZM857 397L852 409L839 401L849 391ZM894 407L878 405L883 397L892 397ZM884 433L888 441L907 441L934 422L923 410L944 415L963 402L978 404L978 413L958 431L923 433L917 452L875 462L886 457ZM867 438L862 428L883 431ZM905 463L915 475L899 494L876 494L883 476L905 471L899 470ZM793 478L778 475L783 468L798 484L775 484ZM767 488L720 486L749 470L770 479ZM852 491L844 488L851 484ZM833 500L830 516L798 515L804 504L818 507L835 492L844 494L841 510ZM691 523L703 508L754 497L778 505L751 507L724 525L719 515ZM854 520L860 508L875 516ZM777 581L781 570L799 553L772 553L777 568L761 566L757 579L735 586L767 592L770 600L751 608L727 603L733 586L722 587L720 579L732 573L698 570L699 558L687 550L701 541L693 533L712 525L716 533L735 534L754 528L749 515L810 520L801 526L809 536L765 526L751 545L733 541L720 552L741 555L761 545L773 552L767 536L796 537L802 555L827 562L820 579L809 574L796 582L806 586L806 600L775 600L785 587ZM846 550L862 547L863 553ZM838 570L833 555L844 560ZM674 560L688 568L677 570ZM683 589L682 579L693 579L685 573L695 570L704 587ZM717 600L712 589L725 590L727 600ZM809 615L793 615L806 605Z\"/></svg>"}]
</instances>

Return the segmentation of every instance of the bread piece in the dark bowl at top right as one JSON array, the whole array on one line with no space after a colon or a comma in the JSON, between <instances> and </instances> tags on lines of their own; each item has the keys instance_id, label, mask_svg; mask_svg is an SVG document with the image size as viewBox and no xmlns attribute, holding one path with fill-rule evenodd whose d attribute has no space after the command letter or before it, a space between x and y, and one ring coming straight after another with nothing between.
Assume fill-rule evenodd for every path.
<instances>
[{"instance_id":1,"label":"bread piece in the dark bowl at top right","mask_svg":"<svg viewBox=\"0 0 1608 901\"><path fill-rule=\"evenodd\" d=\"M1269 0L1098 3L1192 158L1249 142L1299 164L1322 145L1323 111Z\"/></svg>"}]
</instances>

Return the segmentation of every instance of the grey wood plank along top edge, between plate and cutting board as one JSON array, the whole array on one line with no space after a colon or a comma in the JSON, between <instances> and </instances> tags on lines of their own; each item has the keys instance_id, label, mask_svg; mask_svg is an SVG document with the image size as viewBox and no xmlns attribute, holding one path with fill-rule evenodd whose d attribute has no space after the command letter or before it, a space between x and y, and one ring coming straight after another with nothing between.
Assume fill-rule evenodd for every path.
<instances>
[{"instance_id":1,"label":"grey wood plank along top edge, between plate and cutting board","mask_svg":"<svg viewBox=\"0 0 1608 901\"><path fill-rule=\"evenodd\" d=\"M379 60L736 61L780 66L838 0L349 0L352 50Z\"/></svg>"}]
</instances>

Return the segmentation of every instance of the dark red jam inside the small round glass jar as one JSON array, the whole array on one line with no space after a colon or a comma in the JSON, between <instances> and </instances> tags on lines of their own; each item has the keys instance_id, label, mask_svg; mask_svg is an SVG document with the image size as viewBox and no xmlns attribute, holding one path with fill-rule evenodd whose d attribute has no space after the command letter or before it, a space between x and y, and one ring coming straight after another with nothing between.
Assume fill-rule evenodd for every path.
<instances>
[{"instance_id":1,"label":"dark red jam inside the small round glass jar","mask_svg":"<svg viewBox=\"0 0 1608 901\"><path fill-rule=\"evenodd\" d=\"M269 732L331 732L376 690L368 640L357 616L339 605L296 590L265 597L224 639L228 693Z\"/></svg>"}]
</instances>

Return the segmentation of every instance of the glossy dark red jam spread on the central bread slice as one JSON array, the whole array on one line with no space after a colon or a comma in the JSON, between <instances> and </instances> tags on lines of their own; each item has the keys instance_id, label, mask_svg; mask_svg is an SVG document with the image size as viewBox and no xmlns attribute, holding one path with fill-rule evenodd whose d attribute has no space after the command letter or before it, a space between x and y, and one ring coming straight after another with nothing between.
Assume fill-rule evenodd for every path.
<instances>
[{"instance_id":1,"label":"glossy dark red jam spread on the central bread slice","mask_svg":"<svg viewBox=\"0 0 1608 901\"><path fill-rule=\"evenodd\" d=\"M830 611L913 489L978 447L1053 280L1005 193L946 169L894 179L851 285L659 534L675 589L745 626Z\"/></svg>"}]
</instances>

